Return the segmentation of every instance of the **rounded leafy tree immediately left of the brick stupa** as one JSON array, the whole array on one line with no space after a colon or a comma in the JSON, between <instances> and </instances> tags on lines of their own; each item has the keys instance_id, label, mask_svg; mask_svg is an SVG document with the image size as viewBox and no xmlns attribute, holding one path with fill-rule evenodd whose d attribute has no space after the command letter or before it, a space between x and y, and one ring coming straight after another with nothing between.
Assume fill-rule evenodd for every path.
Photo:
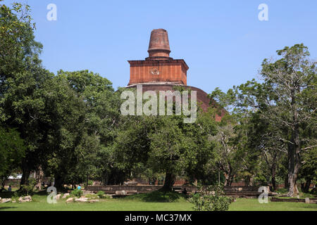
<instances>
[{"instance_id":1,"label":"rounded leafy tree immediately left of the brick stupa","mask_svg":"<svg viewBox=\"0 0 317 225\"><path fill-rule=\"evenodd\" d=\"M100 178L108 168L104 160L111 160L106 153L120 115L111 82L87 70L61 70L46 90L45 102L54 117L46 174L54 176L58 188Z\"/></svg>"}]
</instances>

